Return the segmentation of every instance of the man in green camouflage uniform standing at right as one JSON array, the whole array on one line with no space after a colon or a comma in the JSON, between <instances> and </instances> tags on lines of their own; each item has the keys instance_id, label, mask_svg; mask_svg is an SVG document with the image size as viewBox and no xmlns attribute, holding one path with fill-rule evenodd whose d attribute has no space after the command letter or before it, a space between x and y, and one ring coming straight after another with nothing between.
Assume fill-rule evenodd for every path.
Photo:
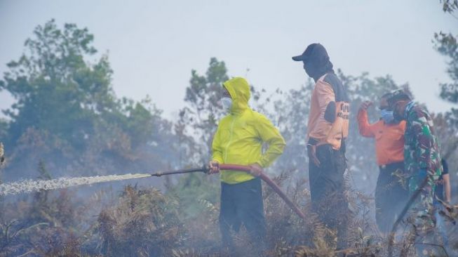
<instances>
[{"instance_id":1,"label":"man in green camouflage uniform standing at right","mask_svg":"<svg viewBox=\"0 0 458 257\"><path fill-rule=\"evenodd\" d=\"M402 90L393 91L388 99L394 119L405 120L404 165L410 195L421 190L410 209L410 223L415 235L426 235L434 228L433 195L442 173L440 145L433 119L426 107L411 100ZM427 178L427 183L420 188ZM418 249L417 249L418 250ZM425 253L425 251L420 251Z\"/></svg>"}]
</instances>

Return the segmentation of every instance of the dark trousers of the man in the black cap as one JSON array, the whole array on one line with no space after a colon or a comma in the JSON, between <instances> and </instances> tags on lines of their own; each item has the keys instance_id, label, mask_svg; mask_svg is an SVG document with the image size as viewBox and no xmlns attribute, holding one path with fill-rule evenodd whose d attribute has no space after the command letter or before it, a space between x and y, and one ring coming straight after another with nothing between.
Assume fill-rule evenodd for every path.
<instances>
[{"instance_id":1,"label":"dark trousers of the man in the black cap","mask_svg":"<svg viewBox=\"0 0 458 257\"><path fill-rule=\"evenodd\" d=\"M337 246L346 247L349 220L348 202L344 196L344 150L334 150L331 145L316 147L320 165L309 159L309 183L312 209L328 228L337 230Z\"/></svg>"}]
</instances>

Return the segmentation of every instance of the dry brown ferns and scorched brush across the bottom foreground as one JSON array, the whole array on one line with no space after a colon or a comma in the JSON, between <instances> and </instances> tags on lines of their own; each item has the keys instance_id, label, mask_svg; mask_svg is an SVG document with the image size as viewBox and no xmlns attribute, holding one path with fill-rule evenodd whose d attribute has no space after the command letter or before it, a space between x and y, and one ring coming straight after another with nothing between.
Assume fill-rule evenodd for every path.
<instances>
[{"instance_id":1,"label":"dry brown ferns and scorched brush across the bottom foreground","mask_svg":"<svg viewBox=\"0 0 458 257\"><path fill-rule=\"evenodd\" d=\"M264 186L268 246L265 256L387 256L388 239L377 230L370 213L373 199L361 192L346 191L351 212L342 218L348 224L349 246L336 249L336 231L325 227L311 211L307 181L292 183L290 178L288 173L282 173L275 180L292 185L288 196L300 206L307 220L296 216ZM2 208L0 256L230 256L220 248L219 205L208 199L196 199L194 204L201 212L187 217L181 212L189 206L152 187L125 187L105 207L100 206L102 195L95 194L79 207L72 193L65 190L57 194L40 192L32 201L6 204ZM458 218L457 210L458 206L446 205L441 214L453 224ZM81 217L85 213L97 216L84 221ZM89 228L83 229L79 223L88 223ZM410 220L400 225L393 242L394 256L415 256L417 246L424 241L412 228L415 227ZM449 225L447 229L450 246L457 248L456 226ZM255 256L245 230L234 238L236 256ZM440 250L440 242L430 243ZM436 251L436 256L446 255Z\"/></svg>"}]
</instances>

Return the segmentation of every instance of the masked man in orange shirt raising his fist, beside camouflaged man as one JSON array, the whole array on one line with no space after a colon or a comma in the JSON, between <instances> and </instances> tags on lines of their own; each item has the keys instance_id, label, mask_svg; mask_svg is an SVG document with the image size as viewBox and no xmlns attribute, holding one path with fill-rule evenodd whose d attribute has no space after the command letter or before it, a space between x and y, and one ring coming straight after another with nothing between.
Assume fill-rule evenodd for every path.
<instances>
[{"instance_id":1,"label":"masked man in orange shirt raising his fist, beside camouflaged man","mask_svg":"<svg viewBox=\"0 0 458 257\"><path fill-rule=\"evenodd\" d=\"M358 111L358 129L361 136L375 138L375 152L379 165L379 177L375 187L375 220L381 232L389 232L403 206L408 201L409 192L398 176L404 173L404 131L405 121L395 121L389 110L390 94L382 95L379 101L381 118L374 124L368 122L368 107L365 101Z\"/></svg>"}]
</instances>

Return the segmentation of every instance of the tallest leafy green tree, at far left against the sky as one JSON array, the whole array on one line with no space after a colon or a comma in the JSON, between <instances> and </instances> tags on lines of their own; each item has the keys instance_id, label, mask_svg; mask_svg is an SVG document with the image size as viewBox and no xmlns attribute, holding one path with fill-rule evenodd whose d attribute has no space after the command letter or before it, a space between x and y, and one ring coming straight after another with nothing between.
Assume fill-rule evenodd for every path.
<instances>
[{"instance_id":1,"label":"tallest leafy green tree, at far left against the sky","mask_svg":"<svg viewBox=\"0 0 458 257\"><path fill-rule=\"evenodd\" d=\"M12 120L7 145L30 127L81 144L93 132L92 117L115 108L107 56L94 65L84 60L97 52L92 41L88 29L74 24L61 30L50 20L36 27L34 38L25 41L28 53L9 62L0 81L0 88L17 100L5 111Z\"/></svg>"}]
</instances>

